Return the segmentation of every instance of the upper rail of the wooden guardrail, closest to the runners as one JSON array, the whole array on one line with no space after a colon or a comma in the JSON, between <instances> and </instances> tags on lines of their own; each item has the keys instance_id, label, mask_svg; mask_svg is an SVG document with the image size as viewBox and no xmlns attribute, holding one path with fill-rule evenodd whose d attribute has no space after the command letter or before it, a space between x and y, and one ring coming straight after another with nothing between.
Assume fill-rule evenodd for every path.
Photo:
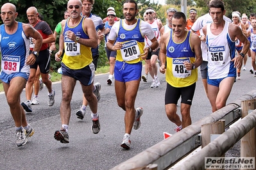
<instances>
[{"instance_id":1,"label":"upper rail of the wooden guardrail, closest to the runners","mask_svg":"<svg viewBox=\"0 0 256 170\"><path fill-rule=\"evenodd\" d=\"M201 125L218 120L225 120L225 127L231 125L241 118L241 102L255 97L256 89L112 169L136 169L149 164L157 164L158 169L166 169L173 166L178 160L201 145Z\"/></svg>"}]
</instances>

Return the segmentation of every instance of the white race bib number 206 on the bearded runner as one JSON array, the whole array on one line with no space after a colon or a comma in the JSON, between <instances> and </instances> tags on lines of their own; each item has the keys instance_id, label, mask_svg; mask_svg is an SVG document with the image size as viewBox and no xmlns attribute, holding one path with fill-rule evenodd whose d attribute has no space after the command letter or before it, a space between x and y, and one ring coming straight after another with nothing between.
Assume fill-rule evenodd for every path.
<instances>
[{"instance_id":1,"label":"white race bib number 206 on the bearded runner","mask_svg":"<svg viewBox=\"0 0 256 170\"><path fill-rule=\"evenodd\" d=\"M124 61L132 61L133 59L139 58L141 55L139 45L136 40L123 43L120 50Z\"/></svg>"}]
</instances>

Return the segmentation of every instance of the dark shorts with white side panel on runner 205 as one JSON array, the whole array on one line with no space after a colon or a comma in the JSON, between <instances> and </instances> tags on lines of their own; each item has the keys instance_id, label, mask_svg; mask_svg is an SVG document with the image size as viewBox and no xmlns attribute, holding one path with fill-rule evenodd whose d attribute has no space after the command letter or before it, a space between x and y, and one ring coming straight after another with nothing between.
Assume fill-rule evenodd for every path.
<instances>
[{"instance_id":1,"label":"dark shorts with white side panel on runner 205","mask_svg":"<svg viewBox=\"0 0 256 170\"><path fill-rule=\"evenodd\" d=\"M80 81L81 84L83 84L84 86L88 86L94 82L94 76L95 76L94 64L90 63L84 68L73 70L65 66L64 63L62 63L62 75L67 75L69 77L72 77L76 81Z\"/></svg>"}]
</instances>

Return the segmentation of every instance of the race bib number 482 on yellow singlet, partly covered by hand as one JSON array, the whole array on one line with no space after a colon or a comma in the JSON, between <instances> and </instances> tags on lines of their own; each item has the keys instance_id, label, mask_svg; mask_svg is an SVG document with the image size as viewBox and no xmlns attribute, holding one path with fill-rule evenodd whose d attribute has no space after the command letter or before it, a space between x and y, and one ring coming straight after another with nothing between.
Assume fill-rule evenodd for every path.
<instances>
[{"instance_id":1,"label":"race bib number 482 on yellow singlet, partly covered by hand","mask_svg":"<svg viewBox=\"0 0 256 170\"><path fill-rule=\"evenodd\" d=\"M175 76L177 78L185 78L185 77L191 76L191 70L189 70L189 71L186 70L186 68L184 66L185 61L190 63L189 58L185 58L185 59L174 58L173 59L173 76Z\"/></svg>"}]
</instances>

